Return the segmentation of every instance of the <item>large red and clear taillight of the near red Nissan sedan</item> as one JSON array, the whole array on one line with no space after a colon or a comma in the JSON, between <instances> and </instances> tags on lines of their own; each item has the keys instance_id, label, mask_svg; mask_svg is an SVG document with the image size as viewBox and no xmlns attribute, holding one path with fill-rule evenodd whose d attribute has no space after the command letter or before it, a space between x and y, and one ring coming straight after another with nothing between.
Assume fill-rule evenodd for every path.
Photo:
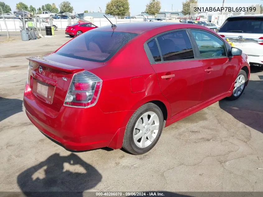
<instances>
[{"instance_id":1,"label":"large red and clear taillight of the near red Nissan sedan","mask_svg":"<svg viewBox=\"0 0 263 197\"><path fill-rule=\"evenodd\" d=\"M95 105L101 84L102 80L88 71L76 73L69 86L64 105L78 107Z\"/></svg>"}]
</instances>

